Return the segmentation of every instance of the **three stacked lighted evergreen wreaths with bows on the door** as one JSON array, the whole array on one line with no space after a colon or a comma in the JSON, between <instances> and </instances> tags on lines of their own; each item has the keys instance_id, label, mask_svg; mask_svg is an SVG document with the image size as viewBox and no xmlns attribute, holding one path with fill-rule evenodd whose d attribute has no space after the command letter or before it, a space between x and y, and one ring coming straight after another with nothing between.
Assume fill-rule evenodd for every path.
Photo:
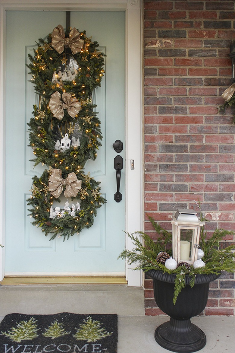
<instances>
[{"instance_id":1,"label":"three stacked lighted evergreen wreaths with bows on the door","mask_svg":"<svg viewBox=\"0 0 235 353\"><path fill-rule=\"evenodd\" d=\"M29 54L27 67L39 96L28 124L32 161L47 169L41 177L33 177L27 203L32 224L50 234L50 240L58 234L65 240L91 227L97 209L106 202L100 182L84 173L86 161L97 157L102 139L92 103L92 91L104 75L105 55L98 46L86 31L64 32L58 25L47 41L38 40L35 56ZM60 203L63 194L67 201L61 210L53 203Z\"/></svg>"}]
</instances>

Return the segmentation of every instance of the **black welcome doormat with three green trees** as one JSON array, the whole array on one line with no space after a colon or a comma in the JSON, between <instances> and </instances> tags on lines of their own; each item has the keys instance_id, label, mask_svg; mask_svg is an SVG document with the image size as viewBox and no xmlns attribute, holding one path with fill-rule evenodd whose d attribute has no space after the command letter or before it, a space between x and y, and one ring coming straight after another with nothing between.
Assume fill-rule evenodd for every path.
<instances>
[{"instance_id":1,"label":"black welcome doormat with three green trees","mask_svg":"<svg viewBox=\"0 0 235 353\"><path fill-rule=\"evenodd\" d=\"M117 314L8 314L0 323L0 353L116 353L117 322Z\"/></svg>"}]
</instances>

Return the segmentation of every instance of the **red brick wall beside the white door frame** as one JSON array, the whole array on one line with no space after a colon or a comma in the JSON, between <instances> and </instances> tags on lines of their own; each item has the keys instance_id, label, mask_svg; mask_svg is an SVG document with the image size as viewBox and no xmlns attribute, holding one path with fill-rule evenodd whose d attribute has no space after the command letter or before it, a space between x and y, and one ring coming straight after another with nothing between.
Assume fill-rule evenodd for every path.
<instances>
[{"instance_id":1,"label":"red brick wall beside the white door frame","mask_svg":"<svg viewBox=\"0 0 235 353\"><path fill-rule=\"evenodd\" d=\"M222 116L231 84L234 1L144 0L145 231L171 229L179 199L200 201L206 229L235 230L235 125ZM230 244L234 238L225 240ZM145 281L146 315L156 307ZM211 283L205 315L234 315L233 274Z\"/></svg>"}]
</instances>

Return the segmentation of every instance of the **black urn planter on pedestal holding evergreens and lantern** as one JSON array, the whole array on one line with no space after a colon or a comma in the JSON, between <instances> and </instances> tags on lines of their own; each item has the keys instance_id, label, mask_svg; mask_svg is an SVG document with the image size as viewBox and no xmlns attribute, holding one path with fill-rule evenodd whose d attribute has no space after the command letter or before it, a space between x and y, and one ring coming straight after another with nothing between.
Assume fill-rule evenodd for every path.
<instances>
[{"instance_id":1,"label":"black urn planter on pedestal holding evergreens and lantern","mask_svg":"<svg viewBox=\"0 0 235 353\"><path fill-rule=\"evenodd\" d=\"M190 278L185 276L185 288L173 304L175 275L158 270L149 270L147 275L153 279L154 299L157 306L170 316L170 320L155 330L155 340L163 348L179 353L199 351L206 344L204 332L192 324L190 318L199 315L206 306L209 284L219 275L196 275L191 288Z\"/></svg>"}]
</instances>

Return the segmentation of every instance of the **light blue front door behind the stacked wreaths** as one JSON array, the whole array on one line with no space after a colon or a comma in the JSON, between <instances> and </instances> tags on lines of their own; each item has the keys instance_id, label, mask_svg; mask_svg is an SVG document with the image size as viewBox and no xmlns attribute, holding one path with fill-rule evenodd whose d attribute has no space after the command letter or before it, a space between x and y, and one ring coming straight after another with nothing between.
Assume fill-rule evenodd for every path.
<instances>
[{"instance_id":1,"label":"light blue front door behind the stacked wreaths","mask_svg":"<svg viewBox=\"0 0 235 353\"><path fill-rule=\"evenodd\" d=\"M95 90L102 147L96 161L86 163L85 172L100 181L107 203L98 210L94 225L63 242L49 240L40 228L33 227L26 199L30 197L32 177L40 176L43 166L33 169L27 145L27 122L37 103L25 63L33 54L38 38L46 37L61 24L66 12L7 12L7 102L6 102L6 275L124 275L125 264L117 260L125 245L125 185L122 170L122 201L114 200L117 155L112 145L125 139L125 13L71 12L70 26L83 31L100 44L106 53L106 74ZM35 46L36 47L36 46ZM124 151L120 152L124 158Z\"/></svg>"}]
</instances>

